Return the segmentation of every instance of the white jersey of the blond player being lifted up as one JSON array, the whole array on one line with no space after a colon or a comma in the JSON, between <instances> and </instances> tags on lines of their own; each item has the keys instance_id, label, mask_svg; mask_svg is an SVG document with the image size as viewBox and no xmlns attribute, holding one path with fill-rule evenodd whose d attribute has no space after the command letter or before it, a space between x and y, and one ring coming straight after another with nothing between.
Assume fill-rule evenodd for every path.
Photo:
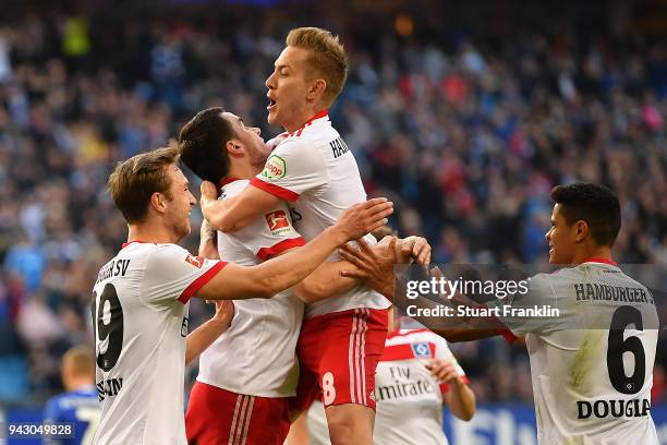
<instances>
[{"instance_id":1,"label":"white jersey of the blond player being lifted up","mask_svg":"<svg viewBox=\"0 0 667 445\"><path fill-rule=\"evenodd\" d=\"M327 110L289 134L251 184L293 203L294 227L306 241L332 226L344 209L366 201L354 155L331 127ZM371 234L364 240L371 245L377 243ZM336 253L329 257L337 260ZM383 296L360 285L344 296L308 304L306 317L389 305Z\"/></svg>"}]
</instances>

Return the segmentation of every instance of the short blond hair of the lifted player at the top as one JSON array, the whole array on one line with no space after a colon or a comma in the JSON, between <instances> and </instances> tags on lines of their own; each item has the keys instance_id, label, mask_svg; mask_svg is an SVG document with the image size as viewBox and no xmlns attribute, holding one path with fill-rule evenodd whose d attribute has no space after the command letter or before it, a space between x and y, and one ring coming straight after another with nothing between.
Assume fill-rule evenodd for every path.
<instances>
[{"instance_id":1,"label":"short blond hair of the lifted player at the top","mask_svg":"<svg viewBox=\"0 0 667 445\"><path fill-rule=\"evenodd\" d=\"M310 51L307 63L327 82L324 98L331 105L348 79L348 56L338 36L318 27L299 27L290 31L286 44Z\"/></svg>"}]
</instances>

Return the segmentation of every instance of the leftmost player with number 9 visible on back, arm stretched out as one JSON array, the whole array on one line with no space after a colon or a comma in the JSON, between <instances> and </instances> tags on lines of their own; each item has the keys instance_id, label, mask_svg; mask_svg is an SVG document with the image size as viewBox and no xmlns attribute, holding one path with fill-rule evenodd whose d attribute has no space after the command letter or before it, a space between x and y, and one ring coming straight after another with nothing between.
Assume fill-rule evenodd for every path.
<instances>
[{"instance_id":1,"label":"leftmost player with number 9 visible on back, arm stretched out","mask_svg":"<svg viewBox=\"0 0 667 445\"><path fill-rule=\"evenodd\" d=\"M192 297L270 298L310 275L339 245L384 225L391 213L385 199L371 200L280 261L251 267L210 261L177 245L191 231L195 204L177 160L178 148L159 148L119 164L109 178L129 234L94 287L96 385L102 402L96 444L186 443L185 361L221 333L217 325L203 325L187 335Z\"/></svg>"}]
</instances>

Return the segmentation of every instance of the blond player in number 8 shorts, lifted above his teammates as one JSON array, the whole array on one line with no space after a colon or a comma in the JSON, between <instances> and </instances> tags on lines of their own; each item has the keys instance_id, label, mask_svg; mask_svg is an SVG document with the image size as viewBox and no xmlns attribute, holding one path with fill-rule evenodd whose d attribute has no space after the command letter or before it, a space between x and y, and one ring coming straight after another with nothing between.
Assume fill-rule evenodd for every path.
<instances>
[{"instance_id":1,"label":"blond player in number 8 shorts, lifted above his teammates","mask_svg":"<svg viewBox=\"0 0 667 445\"><path fill-rule=\"evenodd\" d=\"M311 240L343 208L365 201L354 156L328 117L347 73L338 37L312 27L289 33L287 48L266 81L268 121L284 128L283 140L252 187L238 196L217 201L215 185L203 183L202 209L214 228L242 229L283 200L293 205L299 232ZM373 237L366 239L375 243ZM379 293L359 285L342 298L317 301L305 310L295 409L305 409L322 395L336 443L372 442L375 368L387 335L388 306Z\"/></svg>"}]
</instances>

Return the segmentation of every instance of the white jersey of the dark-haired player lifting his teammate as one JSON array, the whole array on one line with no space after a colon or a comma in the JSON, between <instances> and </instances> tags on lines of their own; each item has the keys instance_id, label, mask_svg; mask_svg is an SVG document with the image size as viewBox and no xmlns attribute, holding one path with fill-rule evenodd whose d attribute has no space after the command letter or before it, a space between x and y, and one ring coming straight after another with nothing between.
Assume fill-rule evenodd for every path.
<instances>
[{"instance_id":1,"label":"white jersey of the dark-haired player lifting his teammate","mask_svg":"<svg viewBox=\"0 0 667 445\"><path fill-rule=\"evenodd\" d=\"M220 199L241 193L248 183L227 181ZM218 232L220 258L244 266L304 244L283 203L242 230ZM294 350L303 302L286 290L271 299L237 300L234 308L229 329L199 357L197 381L251 396L295 395L299 365Z\"/></svg>"}]
</instances>

